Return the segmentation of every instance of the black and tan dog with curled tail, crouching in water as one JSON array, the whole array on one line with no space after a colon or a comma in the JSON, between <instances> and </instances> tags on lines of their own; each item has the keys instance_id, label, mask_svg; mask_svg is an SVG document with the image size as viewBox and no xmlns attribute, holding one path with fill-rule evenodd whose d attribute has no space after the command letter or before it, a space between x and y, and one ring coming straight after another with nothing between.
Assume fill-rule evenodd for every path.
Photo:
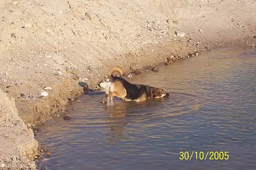
<instances>
[{"instance_id":1,"label":"black and tan dog with curled tail, crouching in water","mask_svg":"<svg viewBox=\"0 0 256 170\"><path fill-rule=\"evenodd\" d=\"M102 99L103 104L113 105L113 98L117 96L125 101L143 101L149 98L162 98L169 95L165 90L155 87L146 86L143 84L131 84L124 80L124 78L113 76L117 71L120 76L124 72L118 66L114 66L108 71L110 82L106 85L105 98Z\"/></svg>"}]
</instances>

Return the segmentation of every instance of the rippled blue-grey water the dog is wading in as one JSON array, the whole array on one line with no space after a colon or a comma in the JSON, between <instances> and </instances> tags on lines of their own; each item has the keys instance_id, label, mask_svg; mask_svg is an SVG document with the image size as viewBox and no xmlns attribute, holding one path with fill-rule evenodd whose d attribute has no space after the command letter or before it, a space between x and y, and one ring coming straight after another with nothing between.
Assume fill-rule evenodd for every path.
<instances>
[{"instance_id":1,"label":"rippled blue-grey water the dog is wading in","mask_svg":"<svg viewBox=\"0 0 256 170\"><path fill-rule=\"evenodd\" d=\"M146 72L133 83L168 98L143 102L84 95L40 126L48 169L255 169L256 51L218 50ZM226 161L181 161L180 151L229 151Z\"/></svg>"}]
</instances>

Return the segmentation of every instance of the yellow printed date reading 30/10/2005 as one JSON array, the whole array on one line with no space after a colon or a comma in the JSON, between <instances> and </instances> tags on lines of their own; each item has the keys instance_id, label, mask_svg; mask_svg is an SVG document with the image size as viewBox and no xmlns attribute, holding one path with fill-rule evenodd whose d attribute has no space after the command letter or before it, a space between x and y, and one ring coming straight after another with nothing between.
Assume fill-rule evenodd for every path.
<instances>
[{"instance_id":1,"label":"yellow printed date reading 30/10/2005","mask_svg":"<svg viewBox=\"0 0 256 170\"><path fill-rule=\"evenodd\" d=\"M180 151L179 160L229 160L229 151Z\"/></svg>"}]
</instances>

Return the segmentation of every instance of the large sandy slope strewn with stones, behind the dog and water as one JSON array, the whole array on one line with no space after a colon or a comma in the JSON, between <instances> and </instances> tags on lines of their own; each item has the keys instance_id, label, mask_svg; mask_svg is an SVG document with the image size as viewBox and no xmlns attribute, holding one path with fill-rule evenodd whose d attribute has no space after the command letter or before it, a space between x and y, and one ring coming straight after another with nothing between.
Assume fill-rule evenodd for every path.
<instances>
[{"instance_id":1,"label":"large sandy slope strewn with stones, behind the dog and water","mask_svg":"<svg viewBox=\"0 0 256 170\"><path fill-rule=\"evenodd\" d=\"M253 0L1 1L0 89L33 127L97 88L110 66L143 71L167 57L254 47L255 9Z\"/></svg>"}]
</instances>

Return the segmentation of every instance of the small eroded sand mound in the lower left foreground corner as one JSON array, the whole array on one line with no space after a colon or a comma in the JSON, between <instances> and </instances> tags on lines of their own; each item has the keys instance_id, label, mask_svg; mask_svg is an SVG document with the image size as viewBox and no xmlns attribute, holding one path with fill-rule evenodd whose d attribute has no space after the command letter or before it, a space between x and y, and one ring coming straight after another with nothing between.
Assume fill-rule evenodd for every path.
<instances>
[{"instance_id":1,"label":"small eroded sand mound in the lower left foreground corner","mask_svg":"<svg viewBox=\"0 0 256 170\"><path fill-rule=\"evenodd\" d=\"M0 90L0 169L36 168L37 141L21 120L14 99Z\"/></svg>"}]
</instances>

